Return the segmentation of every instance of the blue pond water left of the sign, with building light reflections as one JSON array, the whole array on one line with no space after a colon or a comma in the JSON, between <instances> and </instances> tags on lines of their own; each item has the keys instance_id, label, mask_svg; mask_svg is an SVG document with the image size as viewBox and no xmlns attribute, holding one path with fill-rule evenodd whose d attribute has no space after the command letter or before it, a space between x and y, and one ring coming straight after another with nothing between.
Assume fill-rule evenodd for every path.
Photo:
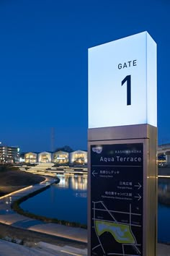
<instances>
[{"instance_id":1,"label":"blue pond water left of the sign, with building light reflections","mask_svg":"<svg viewBox=\"0 0 170 256\"><path fill-rule=\"evenodd\" d=\"M61 182L22 202L21 207L40 216L87 223L87 175L58 175Z\"/></svg>"}]
</instances>

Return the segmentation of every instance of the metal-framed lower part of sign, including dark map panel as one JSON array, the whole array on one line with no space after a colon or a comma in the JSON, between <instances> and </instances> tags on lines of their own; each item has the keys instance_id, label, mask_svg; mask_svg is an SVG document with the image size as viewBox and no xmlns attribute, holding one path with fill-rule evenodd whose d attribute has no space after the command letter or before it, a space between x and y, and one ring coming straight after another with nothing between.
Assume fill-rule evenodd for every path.
<instances>
[{"instance_id":1,"label":"metal-framed lower part of sign, including dark map panel","mask_svg":"<svg viewBox=\"0 0 170 256\"><path fill-rule=\"evenodd\" d=\"M89 129L88 255L156 255L157 128Z\"/></svg>"}]
</instances>

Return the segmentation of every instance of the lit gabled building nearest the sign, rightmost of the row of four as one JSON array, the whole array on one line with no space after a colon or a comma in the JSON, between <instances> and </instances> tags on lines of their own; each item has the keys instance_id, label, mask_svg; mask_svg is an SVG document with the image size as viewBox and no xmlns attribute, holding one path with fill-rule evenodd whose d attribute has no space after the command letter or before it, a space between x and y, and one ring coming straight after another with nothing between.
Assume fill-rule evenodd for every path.
<instances>
[{"instance_id":1,"label":"lit gabled building nearest the sign, rightmost of the row of four","mask_svg":"<svg viewBox=\"0 0 170 256\"><path fill-rule=\"evenodd\" d=\"M87 152L83 150L76 150L69 155L70 163L76 165L82 165L87 163Z\"/></svg>"}]
</instances>

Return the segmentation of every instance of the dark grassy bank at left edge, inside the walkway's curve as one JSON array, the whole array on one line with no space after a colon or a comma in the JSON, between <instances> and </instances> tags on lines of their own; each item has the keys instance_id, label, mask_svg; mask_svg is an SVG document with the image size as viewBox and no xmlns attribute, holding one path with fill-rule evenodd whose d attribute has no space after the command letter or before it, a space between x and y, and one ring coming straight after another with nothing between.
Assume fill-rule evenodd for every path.
<instances>
[{"instance_id":1,"label":"dark grassy bank at left edge, inside the walkway's curve","mask_svg":"<svg viewBox=\"0 0 170 256\"><path fill-rule=\"evenodd\" d=\"M19 187L28 187L44 180L45 178L40 175L19 171L15 167L0 166L0 196L14 192Z\"/></svg>"}]
</instances>

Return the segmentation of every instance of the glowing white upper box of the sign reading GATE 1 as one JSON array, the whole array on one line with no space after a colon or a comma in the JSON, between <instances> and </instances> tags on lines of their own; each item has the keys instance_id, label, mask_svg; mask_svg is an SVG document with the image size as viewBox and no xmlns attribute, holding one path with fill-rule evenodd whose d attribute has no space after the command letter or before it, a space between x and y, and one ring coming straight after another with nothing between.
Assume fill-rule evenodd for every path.
<instances>
[{"instance_id":1,"label":"glowing white upper box of the sign reading GATE 1","mask_svg":"<svg viewBox=\"0 0 170 256\"><path fill-rule=\"evenodd\" d=\"M89 128L157 127L156 43L147 32L89 48Z\"/></svg>"}]
</instances>

